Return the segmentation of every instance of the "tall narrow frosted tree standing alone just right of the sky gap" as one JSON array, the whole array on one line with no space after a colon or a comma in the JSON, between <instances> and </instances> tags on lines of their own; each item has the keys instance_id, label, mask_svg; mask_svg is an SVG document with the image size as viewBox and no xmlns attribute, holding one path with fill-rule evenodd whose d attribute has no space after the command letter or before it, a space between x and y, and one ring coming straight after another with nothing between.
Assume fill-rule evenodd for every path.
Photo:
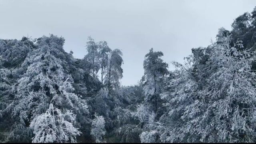
<instances>
[{"instance_id":1,"label":"tall narrow frosted tree standing alone just right of the sky gap","mask_svg":"<svg viewBox=\"0 0 256 144\"><path fill-rule=\"evenodd\" d=\"M143 104L138 105L136 116L140 120L142 133L140 134L141 142L159 142L157 120L163 110L160 103L160 93L164 86L164 79L169 73L168 64L163 62L162 52L154 52L153 48L145 55L144 60L144 76L142 76L141 84L143 86L145 98ZM159 103L159 104L158 104Z\"/></svg>"}]
</instances>

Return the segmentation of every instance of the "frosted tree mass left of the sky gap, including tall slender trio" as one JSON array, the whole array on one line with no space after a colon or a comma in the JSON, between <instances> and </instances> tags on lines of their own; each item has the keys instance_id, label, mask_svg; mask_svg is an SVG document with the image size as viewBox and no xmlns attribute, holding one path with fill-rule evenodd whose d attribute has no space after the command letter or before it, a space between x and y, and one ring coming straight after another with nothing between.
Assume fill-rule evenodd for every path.
<instances>
[{"instance_id":1,"label":"frosted tree mass left of the sky gap, including tall slender trio","mask_svg":"<svg viewBox=\"0 0 256 144\"><path fill-rule=\"evenodd\" d=\"M52 34L0 40L1 142L76 142L77 136L98 140L98 133L90 135L92 112L107 114L105 99L110 104L118 99L123 60L120 50L88 40L82 60L66 53L64 38Z\"/></svg>"}]
</instances>

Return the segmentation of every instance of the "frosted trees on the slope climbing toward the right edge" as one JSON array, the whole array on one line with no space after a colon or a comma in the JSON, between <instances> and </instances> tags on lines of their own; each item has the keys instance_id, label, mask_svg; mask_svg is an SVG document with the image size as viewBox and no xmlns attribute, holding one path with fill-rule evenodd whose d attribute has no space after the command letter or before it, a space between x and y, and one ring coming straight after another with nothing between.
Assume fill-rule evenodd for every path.
<instances>
[{"instance_id":1,"label":"frosted trees on the slope climbing toward the right edge","mask_svg":"<svg viewBox=\"0 0 256 144\"><path fill-rule=\"evenodd\" d=\"M153 72L162 72L158 78L164 79L163 84L147 76L146 57L146 97L137 109L144 116L148 114L140 120L145 123L141 142L256 141L255 14L256 8L236 18L231 31L220 28L216 42L193 48L184 64L173 62L176 69L169 74L165 64L156 65L158 60L154 60L150 68L161 68ZM161 99L158 107L147 102L150 92Z\"/></svg>"}]
</instances>

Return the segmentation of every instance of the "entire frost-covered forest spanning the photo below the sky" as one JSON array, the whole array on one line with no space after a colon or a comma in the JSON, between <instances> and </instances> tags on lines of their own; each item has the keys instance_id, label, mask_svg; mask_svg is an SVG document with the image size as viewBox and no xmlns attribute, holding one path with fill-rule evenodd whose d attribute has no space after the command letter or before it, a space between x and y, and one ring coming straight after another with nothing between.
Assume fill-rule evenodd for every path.
<instances>
[{"instance_id":1,"label":"entire frost-covered forest spanning the photo below the sky","mask_svg":"<svg viewBox=\"0 0 256 144\"><path fill-rule=\"evenodd\" d=\"M151 48L135 86L121 50L64 42L0 40L0 142L256 142L256 7L175 70Z\"/></svg>"}]
</instances>

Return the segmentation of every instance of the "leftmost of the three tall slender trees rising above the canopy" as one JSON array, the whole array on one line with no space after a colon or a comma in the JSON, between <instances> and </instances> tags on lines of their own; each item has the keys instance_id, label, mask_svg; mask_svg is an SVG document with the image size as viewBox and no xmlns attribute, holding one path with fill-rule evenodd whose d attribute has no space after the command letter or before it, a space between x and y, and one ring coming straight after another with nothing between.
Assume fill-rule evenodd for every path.
<instances>
[{"instance_id":1,"label":"leftmost of the three tall slender trees rising above the canopy","mask_svg":"<svg viewBox=\"0 0 256 144\"><path fill-rule=\"evenodd\" d=\"M95 78L95 74L98 73L98 70L100 69L99 64L99 46L94 42L94 39L92 39L90 36L88 36L88 42L86 42L86 50L88 54L84 56L84 58L90 62L90 70L92 70L92 76Z\"/></svg>"}]
</instances>

